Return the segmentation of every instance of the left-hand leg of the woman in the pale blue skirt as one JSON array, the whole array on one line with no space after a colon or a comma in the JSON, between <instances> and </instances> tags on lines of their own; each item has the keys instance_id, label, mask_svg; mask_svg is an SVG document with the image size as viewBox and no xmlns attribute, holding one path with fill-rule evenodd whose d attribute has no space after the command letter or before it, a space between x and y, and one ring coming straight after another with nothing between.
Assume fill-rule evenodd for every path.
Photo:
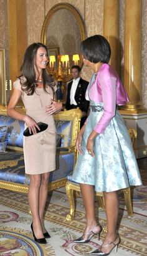
<instances>
[{"instance_id":1,"label":"left-hand leg of the woman in the pale blue skirt","mask_svg":"<svg viewBox=\"0 0 147 256\"><path fill-rule=\"evenodd\" d=\"M97 226L97 221L95 219L95 191L92 185L80 183L80 191L83 199L83 204L85 207L87 224L83 233L88 233ZM93 230L94 233L100 231L100 227L96 227ZM88 235L84 235L83 239L87 240Z\"/></svg>"}]
</instances>

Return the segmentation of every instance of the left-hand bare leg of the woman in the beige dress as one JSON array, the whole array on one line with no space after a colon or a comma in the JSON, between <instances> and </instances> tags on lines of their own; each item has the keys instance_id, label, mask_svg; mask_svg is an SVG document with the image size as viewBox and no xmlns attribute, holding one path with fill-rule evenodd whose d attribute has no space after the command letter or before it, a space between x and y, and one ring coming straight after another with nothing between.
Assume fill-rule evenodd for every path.
<instances>
[{"instance_id":1,"label":"left-hand bare leg of the woman in the beige dress","mask_svg":"<svg viewBox=\"0 0 147 256\"><path fill-rule=\"evenodd\" d=\"M40 180L40 175L30 175L28 199L32 213L33 230L36 235L36 238L44 237L39 217Z\"/></svg>"}]
</instances>

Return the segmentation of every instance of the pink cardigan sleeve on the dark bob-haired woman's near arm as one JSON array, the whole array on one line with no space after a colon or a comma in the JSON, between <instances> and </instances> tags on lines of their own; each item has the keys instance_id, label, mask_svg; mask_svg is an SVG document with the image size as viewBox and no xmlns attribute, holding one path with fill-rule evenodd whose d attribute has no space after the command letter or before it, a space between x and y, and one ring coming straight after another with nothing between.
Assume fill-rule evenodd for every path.
<instances>
[{"instance_id":1,"label":"pink cardigan sleeve on the dark bob-haired woman's near arm","mask_svg":"<svg viewBox=\"0 0 147 256\"><path fill-rule=\"evenodd\" d=\"M112 76L110 68L107 68L100 73L98 82L102 88L104 112L94 130L103 133L116 112L116 77Z\"/></svg>"}]
</instances>

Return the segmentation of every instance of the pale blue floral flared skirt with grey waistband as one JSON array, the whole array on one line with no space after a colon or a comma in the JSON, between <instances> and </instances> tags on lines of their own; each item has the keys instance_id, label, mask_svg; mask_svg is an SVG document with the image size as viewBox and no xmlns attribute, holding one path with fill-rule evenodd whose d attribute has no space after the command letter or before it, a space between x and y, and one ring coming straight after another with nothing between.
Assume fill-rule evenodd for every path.
<instances>
[{"instance_id":1,"label":"pale blue floral flared skirt with grey waistband","mask_svg":"<svg viewBox=\"0 0 147 256\"><path fill-rule=\"evenodd\" d=\"M103 103L90 101L90 107L81 145L83 155L78 155L72 180L94 185L97 192L113 192L130 185L141 185L140 171L130 136L117 110L105 132L94 140L95 156L92 157L88 153L87 138L103 115Z\"/></svg>"}]
</instances>

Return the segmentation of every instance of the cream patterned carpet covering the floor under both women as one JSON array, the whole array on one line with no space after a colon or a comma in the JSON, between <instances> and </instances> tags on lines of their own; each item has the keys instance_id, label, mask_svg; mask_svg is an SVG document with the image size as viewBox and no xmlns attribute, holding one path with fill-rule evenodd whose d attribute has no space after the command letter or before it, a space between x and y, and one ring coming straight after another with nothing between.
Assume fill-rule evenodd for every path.
<instances>
[{"instance_id":1,"label":"cream patterned carpet covering the floor under both women","mask_svg":"<svg viewBox=\"0 0 147 256\"><path fill-rule=\"evenodd\" d=\"M132 190L133 218L128 218L123 197L120 197L119 233L121 244L119 256L147 255L147 186ZM100 242L97 236L88 244L75 244L72 240L80 237L85 226L85 214L81 198L77 198L75 219L67 222L65 216L69 213L69 203L65 190L60 189L50 194L45 214L45 227L51 238L47 245L39 245L32 237L31 216L27 195L0 190L0 255L7 256L79 256L89 255ZM97 208L97 216L102 226L106 225L105 212Z\"/></svg>"}]
</instances>

